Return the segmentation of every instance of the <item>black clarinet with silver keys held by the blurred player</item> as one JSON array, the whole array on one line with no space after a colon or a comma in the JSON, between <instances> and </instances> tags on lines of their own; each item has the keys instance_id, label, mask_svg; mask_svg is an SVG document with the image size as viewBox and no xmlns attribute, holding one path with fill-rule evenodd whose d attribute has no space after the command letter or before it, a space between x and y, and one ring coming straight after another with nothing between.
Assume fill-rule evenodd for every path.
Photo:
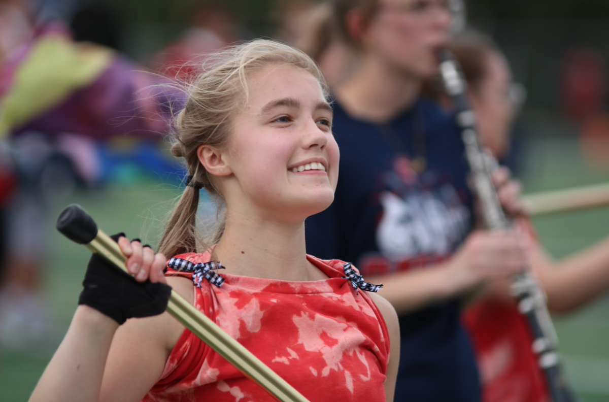
<instances>
[{"instance_id":1,"label":"black clarinet with silver keys held by the blurred player","mask_svg":"<svg viewBox=\"0 0 609 402\"><path fill-rule=\"evenodd\" d=\"M465 156L470 164L474 189L482 205L485 224L493 230L507 230L512 226L512 222L501 207L491 180L493 164L481 146L476 130L476 116L467 101L465 80L456 60L446 49L440 52L440 77L456 111L457 123L465 144ZM518 300L519 312L526 316L529 323L533 335L532 350L545 375L552 402L577 401L558 354L558 337L547 311L546 297L527 267L523 267L523 270L513 277L511 290Z\"/></svg>"}]
</instances>

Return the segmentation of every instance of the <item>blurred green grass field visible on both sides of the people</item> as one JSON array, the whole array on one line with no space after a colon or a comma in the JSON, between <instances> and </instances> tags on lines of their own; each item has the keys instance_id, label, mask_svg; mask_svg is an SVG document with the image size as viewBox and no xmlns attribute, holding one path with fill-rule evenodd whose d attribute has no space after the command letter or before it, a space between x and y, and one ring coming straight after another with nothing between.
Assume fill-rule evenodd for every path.
<instances>
[{"instance_id":1,"label":"blurred green grass field visible on both sides of the people","mask_svg":"<svg viewBox=\"0 0 609 402\"><path fill-rule=\"evenodd\" d=\"M532 143L530 171L523 177L525 192L567 188L609 181L609 172L591 173L583 164L574 141L551 145ZM44 296L58 332L65 333L76 308L80 281L88 250L73 244L54 228L59 212L69 203L79 203L107 233L125 231L128 236L155 242L158 221L178 194L171 186L143 183L135 187L113 187L77 193L53 205L46 222L48 249L44 272ZM554 214L534 219L541 241L556 257L565 256L609 234L609 208ZM602 297L567 317L555 319L561 351L571 381L583 400L609 400L609 297ZM0 353L0 401L26 401L58 339L32 345L29 351Z\"/></svg>"}]
</instances>

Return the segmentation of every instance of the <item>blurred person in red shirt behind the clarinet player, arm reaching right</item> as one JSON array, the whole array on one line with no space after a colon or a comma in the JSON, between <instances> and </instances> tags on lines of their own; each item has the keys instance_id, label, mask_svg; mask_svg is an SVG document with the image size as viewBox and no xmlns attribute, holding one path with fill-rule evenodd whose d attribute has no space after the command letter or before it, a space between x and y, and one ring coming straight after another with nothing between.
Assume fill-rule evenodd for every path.
<instances>
[{"instance_id":1,"label":"blurred person in red shirt behind the clarinet player, arm reaching right","mask_svg":"<svg viewBox=\"0 0 609 402\"><path fill-rule=\"evenodd\" d=\"M482 144L502 160L509 153L512 123L524 101L510 66L490 37L469 30L452 38L448 48L468 85ZM443 94L439 94L440 100ZM446 103L446 107L451 105ZM516 221L528 244L530 267L554 314L571 312L609 289L609 237L589 249L554 260L535 236L531 222ZM485 402L549 400L544 378L531 352L526 318L510 296L509 281L496 281L471 303L463 316L476 348Z\"/></svg>"}]
</instances>

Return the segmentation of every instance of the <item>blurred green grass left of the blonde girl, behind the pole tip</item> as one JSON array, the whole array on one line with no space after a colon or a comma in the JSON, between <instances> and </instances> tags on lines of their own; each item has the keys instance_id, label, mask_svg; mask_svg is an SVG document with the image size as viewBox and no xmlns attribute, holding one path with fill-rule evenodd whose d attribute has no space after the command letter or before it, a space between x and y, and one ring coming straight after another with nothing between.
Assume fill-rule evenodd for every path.
<instances>
[{"instance_id":1,"label":"blurred green grass left of the blonde girl, behind the pole tip","mask_svg":"<svg viewBox=\"0 0 609 402\"><path fill-rule=\"evenodd\" d=\"M78 192L69 199L58 201L49 211L46 223L48 265L44 272L44 296L48 300L58 332L67 330L78 295L84 269L90 252L72 243L55 230L55 219L69 203L78 203L96 220L99 228L108 234L125 231L131 238L155 242L153 228L178 193L171 186L155 183L138 187L114 187L93 192ZM44 345L32 345L30 353L3 350L0 353L0 401L27 401L46 363L57 348L58 339L50 339Z\"/></svg>"}]
</instances>

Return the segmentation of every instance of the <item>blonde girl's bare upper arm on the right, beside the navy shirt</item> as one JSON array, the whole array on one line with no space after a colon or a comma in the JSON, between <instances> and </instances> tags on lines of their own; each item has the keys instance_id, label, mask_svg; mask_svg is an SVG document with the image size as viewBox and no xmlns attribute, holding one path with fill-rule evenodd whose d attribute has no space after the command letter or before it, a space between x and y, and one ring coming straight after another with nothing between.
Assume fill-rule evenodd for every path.
<instances>
[{"instance_id":1,"label":"blonde girl's bare upper arm on the right, beside the navy shirt","mask_svg":"<svg viewBox=\"0 0 609 402\"><path fill-rule=\"evenodd\" d=\"M381 311L387 324L387 331L389 331L390 349L387 379L385 379L385 399L387 402L393 402L395 381L398 376L398 365L400 364L400 324L398 323L398 314L396 314L391 303L381 295L370 293L370 297L375 302L379 311Z\"/></svg>"}]
</instances>

